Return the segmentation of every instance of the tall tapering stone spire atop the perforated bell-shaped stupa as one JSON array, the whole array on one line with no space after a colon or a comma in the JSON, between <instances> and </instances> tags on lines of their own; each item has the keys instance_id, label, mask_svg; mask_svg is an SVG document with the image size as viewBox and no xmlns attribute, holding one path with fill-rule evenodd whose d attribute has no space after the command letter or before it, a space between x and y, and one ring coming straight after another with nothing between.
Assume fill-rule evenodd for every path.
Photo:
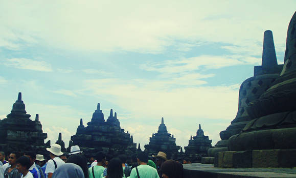
<instances>
[{"instance_id":1,"label":"tall tapering stone spire atop the perforated bell-shaped stupa","mask_svg":"<svg viewBox=\"0 0 296 178\"><path fill-rule=\"evenodd\" d=\"M278 65L274 37L270 30L264 32L263 51L262 51L262 68L269 69Z\"/></svg>"}]
</instances>

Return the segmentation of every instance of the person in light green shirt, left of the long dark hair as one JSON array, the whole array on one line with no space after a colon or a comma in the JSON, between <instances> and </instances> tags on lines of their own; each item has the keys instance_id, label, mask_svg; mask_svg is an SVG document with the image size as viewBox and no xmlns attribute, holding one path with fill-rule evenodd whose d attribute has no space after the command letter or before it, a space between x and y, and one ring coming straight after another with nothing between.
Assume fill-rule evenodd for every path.
<instances>
[{"instance_id":1,"label":"person in light green shirt, left of the long dark hair","mask_svg":"<svg viewBox=\"0 0 296 178\"><path fill-rule=\"evenodd\" d=\"M104 172L104 160L106 155L103 152L98 152L95 155L95 158L97 160L97 165L88 168L88 177L89 178L102 178L102 173Z\"/></svg>"}]
</instances>

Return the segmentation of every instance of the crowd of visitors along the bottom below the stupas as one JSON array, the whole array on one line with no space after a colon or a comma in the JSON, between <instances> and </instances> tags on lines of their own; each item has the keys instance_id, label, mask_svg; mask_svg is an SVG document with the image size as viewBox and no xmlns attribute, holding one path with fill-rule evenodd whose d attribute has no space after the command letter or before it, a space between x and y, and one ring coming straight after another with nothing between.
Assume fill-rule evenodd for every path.
<instances>
[{"instance_id":1,"label":"crowd of visitors along the bottom below the stupas","mask_svg":"<svg viewBox=\"0 0 296 178\"><path fill-rule=\"evenodd\" d=\"M98 152L87 160L78 145L70 154L61 152L58 144L47 151L48 160L34 152L11 152L8 161L0 152L0 178L183 178L183 165L167 160L164 152L152 156L152 161L146 152L113 158Z\"/></svg>"}]
</instances>

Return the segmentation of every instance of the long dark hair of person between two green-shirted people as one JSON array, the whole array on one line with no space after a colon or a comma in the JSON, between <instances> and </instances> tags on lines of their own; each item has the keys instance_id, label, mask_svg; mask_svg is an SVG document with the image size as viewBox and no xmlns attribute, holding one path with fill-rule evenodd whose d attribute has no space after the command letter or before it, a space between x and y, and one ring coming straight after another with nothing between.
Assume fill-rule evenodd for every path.
<instances>
[{"instance_id":1,"label":"long dark hair of person between two green-shirted people","mask_svg":"<svg viewBox=\"0 0 296 178\"><path fill-rule=\"evenodd\" d=\"M122 178L123 169L119 158L112 158L109 161L106 178Z\"/></svg>"}]
</instances>

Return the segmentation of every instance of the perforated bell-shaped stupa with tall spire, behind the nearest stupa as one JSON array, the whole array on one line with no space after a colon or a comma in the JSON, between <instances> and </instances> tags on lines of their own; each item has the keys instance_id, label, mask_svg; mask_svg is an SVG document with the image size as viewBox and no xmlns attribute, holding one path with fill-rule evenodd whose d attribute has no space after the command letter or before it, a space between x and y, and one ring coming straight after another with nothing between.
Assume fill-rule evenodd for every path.
<instances>
[{"instance_id":1,"label":"perforated bell-shaped stupa with tall spire, behind the nearest stupa","mask_svg":"<svg viewBox=\"0 0 296 178\"><path fill-rule=\"evenodd\" d=\"M254 67L254 76L242 82L239 89L238 111L231 125L220 132L221 140L214 148L209 149L208 155L228 151L229 138L242 131L245 125L252 120L246 107L257 100L279 77L283 65L278 65L274 39L271 31L264 32L262 65Z\"/></svg>"}]
</instances>

